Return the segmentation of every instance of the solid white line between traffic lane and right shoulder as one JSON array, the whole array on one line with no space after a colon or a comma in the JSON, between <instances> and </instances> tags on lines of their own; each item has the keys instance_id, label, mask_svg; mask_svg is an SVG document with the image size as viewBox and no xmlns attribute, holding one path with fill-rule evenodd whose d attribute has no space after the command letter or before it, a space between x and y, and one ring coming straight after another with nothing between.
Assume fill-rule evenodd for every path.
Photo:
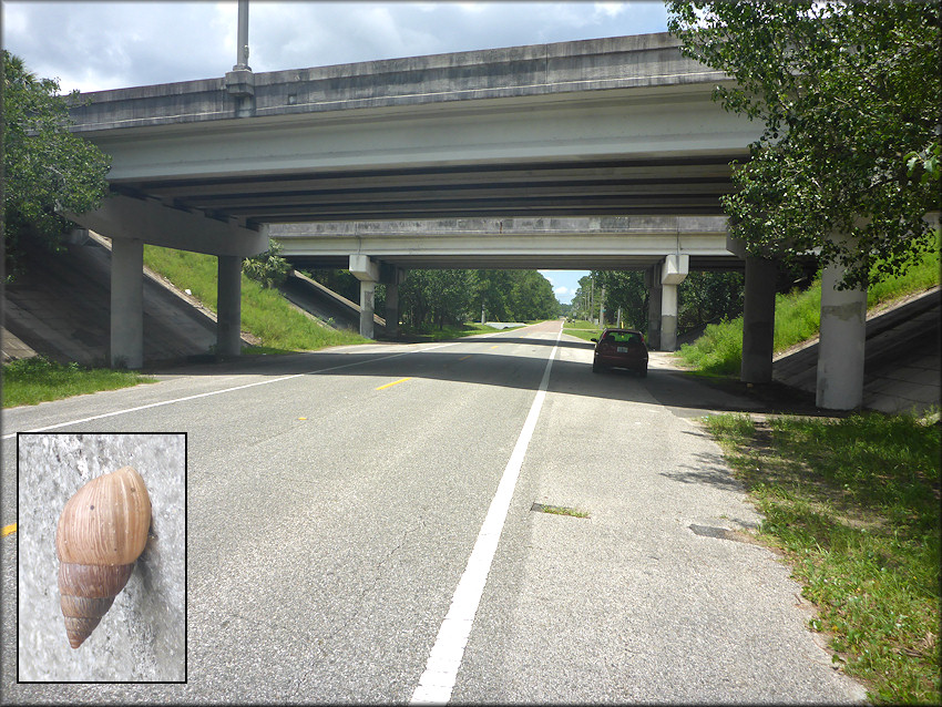
<instances>
[{"instance_id":1,"label":"solid white line between traffic lane and right shoulder","mask_svg":"<svg viewBox=\"0 0 942 707\"><path fill-rule=\"evenodd\" d=\"M491 563L498 550L498 542L503 532L510 501L520 477L520 469L526 455L526 448L530 445L530 438L533 437L533 430L536 428L540 409L543 407L543 400L546 397L550 370L553 368L553 359L556 358L562 335L561 327L556 335L556 344L550 354L550 360L546 361L546 369L543 371L543 379L540 381L536 397L530 407L530 412L523 423L523 429L520 431L510 461L504 468L498 491L491 500L491 506L488 509L484 524L481 525L481 531L478 533L478 540L474 542L468 565L458 582L454 596L451 597L451 607L439 628L436 643L426 664L426 672L422 673L419 685L412 693L411 704L413 705L444 705L451 699L451 691L454 689L454 682L458 678L458 668L461 667L461 660L464 657L464 646L468 645L468 636L471 635L474 615L478 613L478 605L481 602L488 574L491 571Z\"/></svg>"}]
</instances>

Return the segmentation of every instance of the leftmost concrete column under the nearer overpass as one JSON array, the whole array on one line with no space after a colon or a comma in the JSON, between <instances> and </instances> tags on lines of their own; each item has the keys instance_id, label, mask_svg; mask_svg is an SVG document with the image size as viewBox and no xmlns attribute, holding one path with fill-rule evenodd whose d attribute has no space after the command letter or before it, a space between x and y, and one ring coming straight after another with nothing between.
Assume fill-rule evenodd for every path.
<instances>
[{"instance_id":1,"label":"leftmost concrete column under the nearer overpass","mask_svg":"<svg viewBox=\"0 0 942 707\"><path fill-rule=\"evenodd\" d=\"M144 365L144 242L111 240L111 367Z\"/></svg>"}]
</instances>

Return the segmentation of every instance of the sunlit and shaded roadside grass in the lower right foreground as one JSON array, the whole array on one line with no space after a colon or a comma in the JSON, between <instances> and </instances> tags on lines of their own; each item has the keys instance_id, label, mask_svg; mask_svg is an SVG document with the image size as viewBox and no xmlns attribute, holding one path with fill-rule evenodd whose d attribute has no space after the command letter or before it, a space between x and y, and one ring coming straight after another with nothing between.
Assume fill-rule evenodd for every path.
<instances>
[{"instance_id":1,"label":"sunlit and shaded roadside grass in the lower right foreground","mask_svg":"<svg viewBox=\"0 0 942 707\"><path fill-rule=\"evenodd\" d=\"M942 703L938 417L706 421L818 606L810 628L877 703Z\"/></svg>"}]
</instances>

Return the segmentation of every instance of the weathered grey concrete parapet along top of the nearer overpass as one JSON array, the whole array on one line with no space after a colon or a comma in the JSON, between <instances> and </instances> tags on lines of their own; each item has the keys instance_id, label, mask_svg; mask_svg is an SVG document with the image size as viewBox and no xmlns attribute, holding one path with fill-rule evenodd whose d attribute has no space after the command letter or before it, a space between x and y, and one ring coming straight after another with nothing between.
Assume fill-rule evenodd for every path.
<instances>
[{"instance_id":1,"label":"weathered grey concrete parapet along top of the nearer overpass","mask_svg":"<svg viewBox=\"0 0 942 707\"><path fill-rule=\"evenodd\" d=\"M255 115L291 116L358 107L573 91L716 83L723 72L679 52L667 32L409 57L255 74ZM227 120L238 101L225 79L81 94L74 132Z\"/></svg>"}]
</instances>

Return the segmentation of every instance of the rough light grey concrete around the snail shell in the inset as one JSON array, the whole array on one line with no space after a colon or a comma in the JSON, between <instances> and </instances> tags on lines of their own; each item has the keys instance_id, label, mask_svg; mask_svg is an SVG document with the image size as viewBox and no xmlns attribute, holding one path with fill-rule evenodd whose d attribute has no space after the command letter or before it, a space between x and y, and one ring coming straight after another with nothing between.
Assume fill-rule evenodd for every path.
<instances>
[{"instance_id":1,"label":"rough light grey concrete around the snail shell in the inset","mask_svg":"<svg viewBox=\"0 0 942 707\"><path fill-rule=\"evenodd\" d=\"M186 436L37 433L17 441L18 679L185 680ZM147 485L147 545L101 623L73 649L59 606L59 515L81 486L125 465Z\"/></svg>"}]
</instances>

